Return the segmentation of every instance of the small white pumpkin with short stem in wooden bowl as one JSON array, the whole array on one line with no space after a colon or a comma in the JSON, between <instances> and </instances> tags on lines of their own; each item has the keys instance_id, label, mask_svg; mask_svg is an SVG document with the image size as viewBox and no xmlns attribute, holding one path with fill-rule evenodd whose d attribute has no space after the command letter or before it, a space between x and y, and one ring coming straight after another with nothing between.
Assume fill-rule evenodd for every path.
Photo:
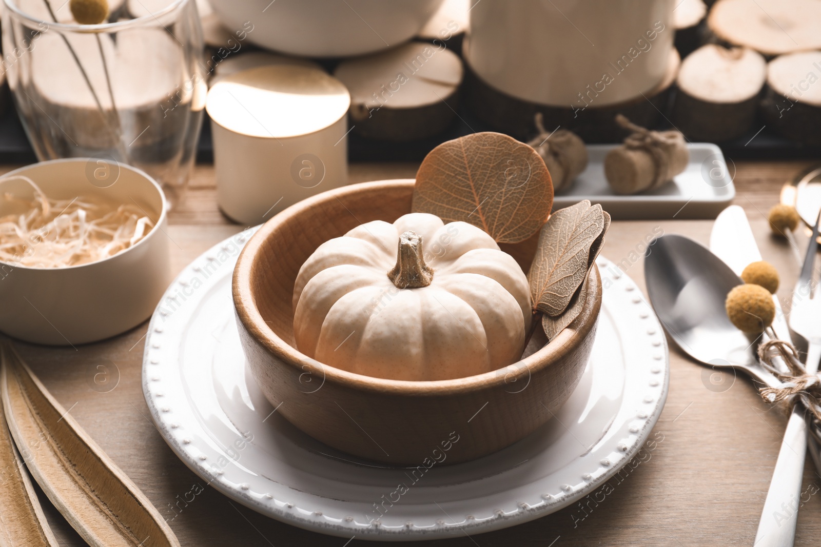
<instances>
[{"instance_id":1,"label":"small white pumpkin with short stem in wooden bowl","mask_svg":"<svg viewBox=\"0 0 821 547\"><path fill-rule=\"evenodd\" d=\"M531 321L516 261L484 230L427 213L326 241L300 268L293 302L300 352L394 380L505 367L521 357Z\"/></svg>"}]
</instances>

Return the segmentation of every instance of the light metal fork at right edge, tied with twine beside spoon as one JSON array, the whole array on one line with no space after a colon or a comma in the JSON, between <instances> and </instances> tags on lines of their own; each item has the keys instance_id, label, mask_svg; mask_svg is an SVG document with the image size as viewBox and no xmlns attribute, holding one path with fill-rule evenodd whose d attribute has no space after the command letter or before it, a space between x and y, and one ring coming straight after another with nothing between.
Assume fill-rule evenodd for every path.
<instances>
[{"instance_id":1,"label":"light metal fork at right edge, tied with twine beside spoon","mask_svg":"<svg viewBox=\"0 0 821 547\"><path fill-rule=\"evenodd\" d=\"M818 372L821 360L821 298L812 295L813 267L818 250L819 222L815 221L810 244L804 258L804 266L792 292L790 327L807 340L805 368L808 374ZM804 476L804 459L807 452L807 422L805 408L800 404L792 409L790 421L770 481L764 510L761 512L759 530L755 534L755 547L784 547L796 540L796 521L800 505L801 480Z\"/></svg>"}]
</instances>

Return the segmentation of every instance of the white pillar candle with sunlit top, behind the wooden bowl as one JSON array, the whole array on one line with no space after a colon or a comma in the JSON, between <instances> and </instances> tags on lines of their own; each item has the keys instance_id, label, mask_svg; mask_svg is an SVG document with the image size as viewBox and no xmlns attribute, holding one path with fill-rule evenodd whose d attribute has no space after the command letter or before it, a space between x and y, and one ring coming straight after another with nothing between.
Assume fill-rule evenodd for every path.
<instances>
[{"instance_id":1,"label":"white pillar candle with sunlit top, behind the wooden bowl","mask_svg":"<svg viewBox=\"0 0 821 547\"><path fill-rule=\"evenodd\" d=\"M256 225L347 183L351 96L305 66L262 66L228 75L209 91L217 201Z\"/></svg>"}]
</instances>

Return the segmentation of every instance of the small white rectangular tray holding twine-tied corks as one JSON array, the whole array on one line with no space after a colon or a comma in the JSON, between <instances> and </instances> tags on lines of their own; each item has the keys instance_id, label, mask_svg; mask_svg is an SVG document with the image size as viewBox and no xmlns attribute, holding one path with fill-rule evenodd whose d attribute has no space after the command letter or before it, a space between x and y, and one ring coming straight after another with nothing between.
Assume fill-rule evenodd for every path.
<instances>
[{"instance_id":1,"label":"small white rectangular tray holding twine-tied corks","mask_svg":"<svg viewBox=\"0 0 821 547\"><path fill-rule=\"evenodd\" d=\"M736 166L727 162L715 144L690 143L690 163L681 175L645 194L613 194L604 176L604 157L614 144L588 144L587 169L570 188L553 198L553 208L561 209L589 199L601 203L614 220L663 218L715 218L736 196L732 179Z\"/></svg>"}]
</instances>

